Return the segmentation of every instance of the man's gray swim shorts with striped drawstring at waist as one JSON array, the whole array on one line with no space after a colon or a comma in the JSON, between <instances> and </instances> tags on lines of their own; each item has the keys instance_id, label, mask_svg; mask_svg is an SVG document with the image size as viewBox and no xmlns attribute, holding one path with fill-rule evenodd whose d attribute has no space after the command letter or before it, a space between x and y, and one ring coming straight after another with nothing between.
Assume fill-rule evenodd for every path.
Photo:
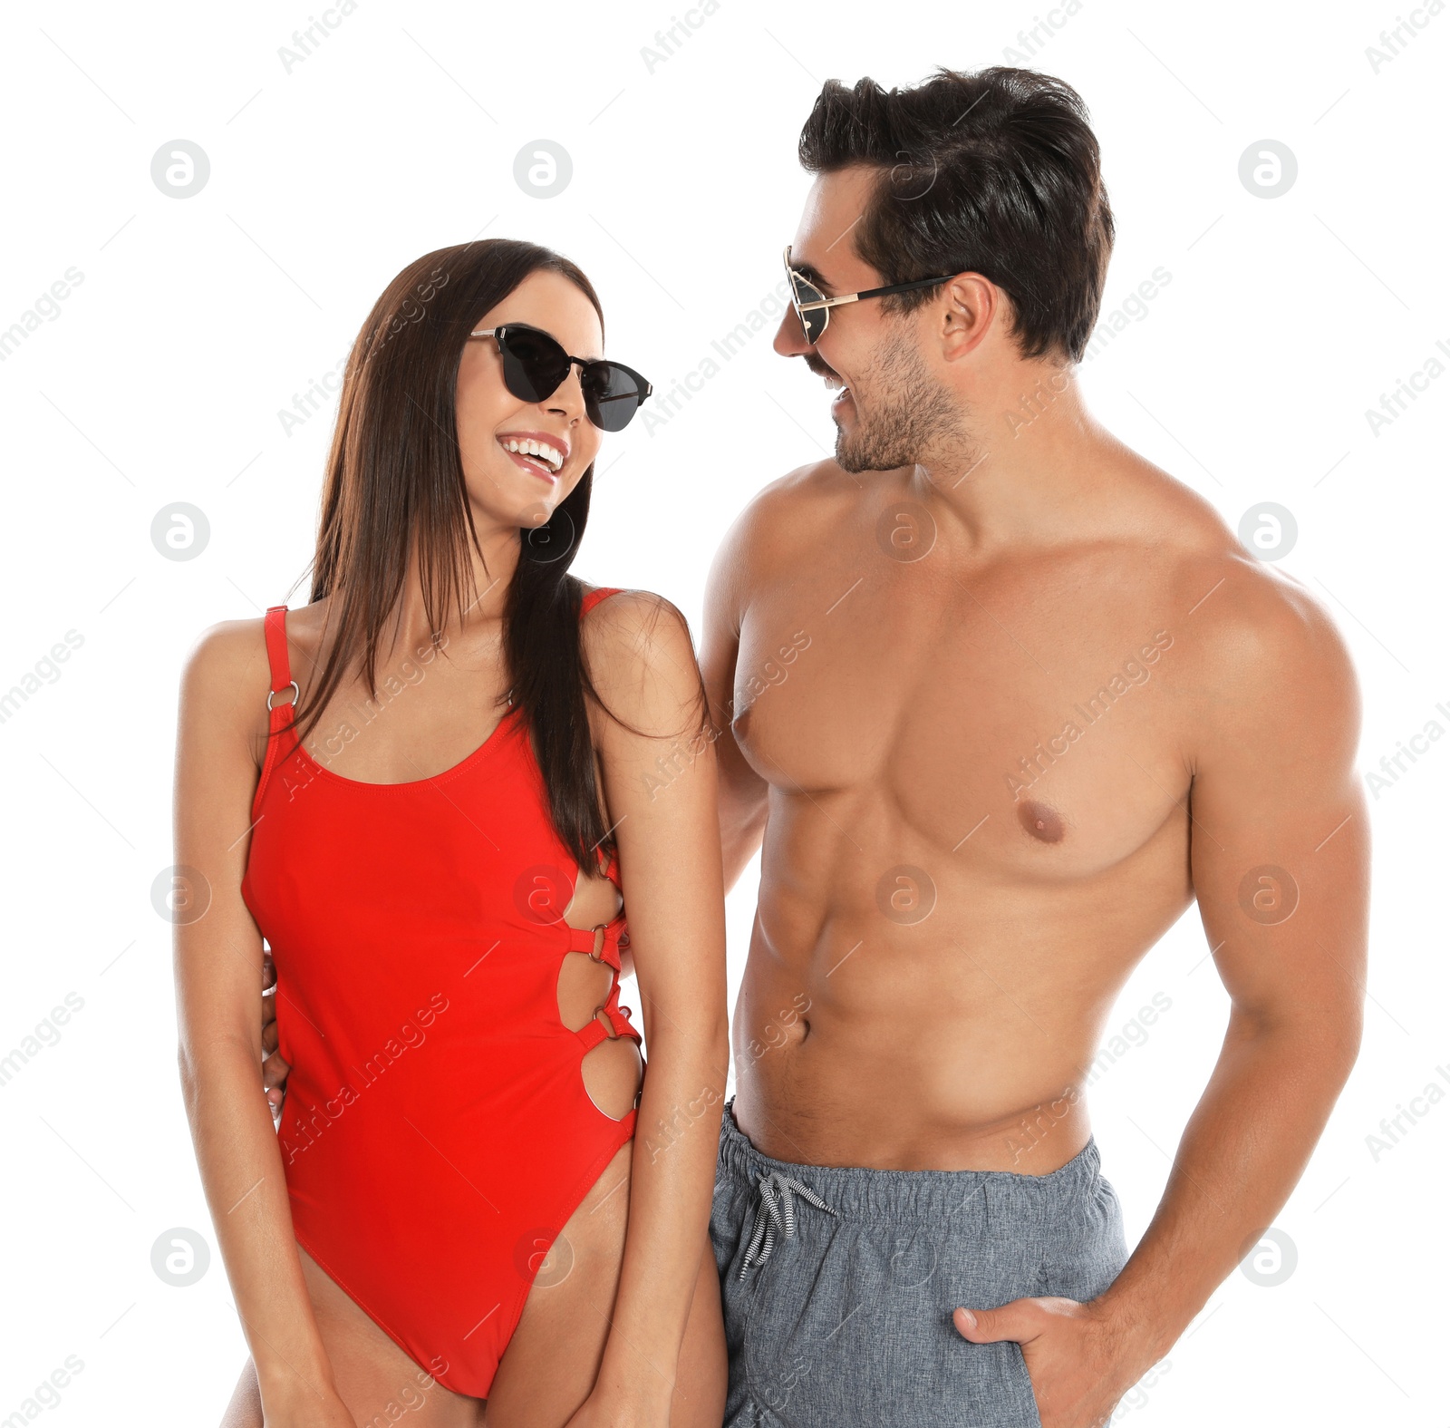
<instances>
[{"instance_id":1,"label":"man's gray swim shorts with striped drawstring at waist","mask_svg":"<svg viewBox=\"0 0 1450 1428\"><path fill-rule=\"evenodd\" d=\"M725 1428L1041 1428L1022 1350L967 1342L951 1310L1086 1300L1118 1277L1098 1146L1050 1175L796 1165L761 1155L732 1107L710 1210Z\"/></svg>"}]
</instances>

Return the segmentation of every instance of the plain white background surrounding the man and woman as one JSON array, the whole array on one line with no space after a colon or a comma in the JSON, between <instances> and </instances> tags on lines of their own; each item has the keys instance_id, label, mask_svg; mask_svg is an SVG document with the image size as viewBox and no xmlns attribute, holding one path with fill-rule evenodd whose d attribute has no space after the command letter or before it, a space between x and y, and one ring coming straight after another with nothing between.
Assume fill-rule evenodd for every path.
<instances>
[{"instance_id":1,"label":"plain white background surrounding the man and woman","mask_svg":"<svg viewBox=\"0 0 1450 1428\"><path fill-rule=\"evenodd\" d=\"M177 1084L170 926L151 900L171 862L177 673L213 621L304 602L331 411L291 434L278 411L431 248L484 231L561 248L603 296L610 351L666 389L779 282L822 80L1025 58L1079 89L1102 142L1119 232L1105 315L1154 268L1172 277L1085 364L1092 406L1232 525L1260 501L1292 511L1280 569L1354 652L1364 771L1430 720L1450 729L1436 710L1450 707L1450 376L1378 434L1366 419L1437 340L1450 347L1450 17L1414 12L1424 29L1376 73L1366 48L1402 13L1389 0L1086 0L1053 12L1061 28L1031 52L1018 33L1045 7L724 0L648 61L683 9L361 0L329 12L336 29L290 71L278 49L316 6L7 9L0 329L68 268L84 277L0 363L0 689L67 631L84 643L0 723L0 1055L67 994L83 1009L0 1086L0 1418L74 1354L84 1368L46 1422L215 1422L242 1363L219 1260L186 1289L151 1268L174 1226L212 1239ZM573 158L548 200L513 178L541 138ZM151 178L174 139L210 161L187 199ZM1275 199L1238 176L1264 139L1298 161ZM755 337L667 424L606 438L576 572L661 591L697 628L725 525L831 440L821 383ZM149 534L177 501L210 524L188 562ZM1424 747L1372 794L1364 1048L1277 1222L1296 1265L1275 1286L1234 1273L1130 1424L1446 1421L1450 1104L1401 1122L1378 1160L1366 1144L1428 1083L1450 1093L1450 742ZM731 900L732 993L753 900L754 872ZM1222 1035L1205 953L1190 913L1112 1025L1154 993L1172 1009L1090 1093L1130 1239Z\"/></svg>"}]
</instances>

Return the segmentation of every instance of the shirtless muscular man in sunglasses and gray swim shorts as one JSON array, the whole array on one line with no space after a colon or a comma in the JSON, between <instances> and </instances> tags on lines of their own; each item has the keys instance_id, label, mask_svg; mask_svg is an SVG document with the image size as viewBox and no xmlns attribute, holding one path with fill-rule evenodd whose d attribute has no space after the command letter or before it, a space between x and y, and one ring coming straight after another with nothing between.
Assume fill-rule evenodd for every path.
<instances>
[{"instance_id":1,"label":"shirtless muscular man in sunglasses and gray swim shorts","mask_svg":"<svg viewBox=\"0 0 1450 1428\"><path fill-rule=\"evenodd\" d=\"M1082 402L1112 218L1072 89L832 81L800 158L776 350L837 389L835 460L741 515L703 631L728 882L764 839L710 1225L726 1424L1089 1428L1354 1062L1354 676ZM1083 1084L1195 898L1232 1012L1130 1257Z\"/></svg>"}]
</instances>

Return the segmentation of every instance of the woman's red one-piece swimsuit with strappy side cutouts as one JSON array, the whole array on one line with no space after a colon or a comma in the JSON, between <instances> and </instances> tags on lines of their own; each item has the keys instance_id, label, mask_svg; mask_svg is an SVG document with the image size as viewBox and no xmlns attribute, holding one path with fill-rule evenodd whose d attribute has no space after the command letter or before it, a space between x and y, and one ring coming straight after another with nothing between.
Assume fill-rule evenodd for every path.
<instances>
[{"instance_id":1,"label":"woman's red one-piece swimsuit with strappy side cutouts","mask_svg":"<svg viewBox=\"0 0 1450 1428\"><path fill-rule=\"evenodd\" d=\"M313 759L290 729L286 615L265 620L273 736L242 895L277 967L293 1231L418 1364L487 1398L550 1247L634 1135L637 1112L606 1116L581 1072L606 1036L641 1039L619 1006L624 911L564 922L579 868L516 707L434 778ZM606 872L618 887L618 858ZM558 1014L568 952L613 968L583 1030Z\"/></svg>"}]
</instances>

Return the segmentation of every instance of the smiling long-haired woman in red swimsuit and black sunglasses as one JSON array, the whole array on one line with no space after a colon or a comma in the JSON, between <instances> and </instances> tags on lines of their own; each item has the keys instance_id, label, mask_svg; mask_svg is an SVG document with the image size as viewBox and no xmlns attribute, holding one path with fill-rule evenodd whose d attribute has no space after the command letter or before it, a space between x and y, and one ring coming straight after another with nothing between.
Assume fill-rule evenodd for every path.
<instances>
[{"instance_id":1,"label":"smiling long-haired woman in red swimsuit and black sunglasses","mask_svg":"<svg viewBox=\"0 0 1450 1428\"><path fill-rule=\"evenodd\" d=\"M674 607L568 575L648 395L602 354L545 248L405 268L348 361L312 602L187 666L181 1077L252 1355L229 1428L721 1422L713 744Z\"/></svg>"}]
</instances>

